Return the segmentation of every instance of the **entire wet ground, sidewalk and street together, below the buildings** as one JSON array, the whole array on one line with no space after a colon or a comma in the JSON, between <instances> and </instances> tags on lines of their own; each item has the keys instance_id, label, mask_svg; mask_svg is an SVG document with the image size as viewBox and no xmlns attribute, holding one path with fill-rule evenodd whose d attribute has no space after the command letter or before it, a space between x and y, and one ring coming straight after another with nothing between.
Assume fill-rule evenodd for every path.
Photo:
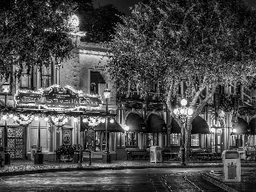
<instances>
[{"instance_id":1,"label":"entire wet ground, sidewalk and street together, below the buildings","mask_svg":"<svg viewBox=\"0 0 256 192\"><path fill-rule=\"evenodd\" d=\"M0 168L0 191L256 191L255 161L241 161L241 182L236 183L223 182L222 167L221 161L181 166L177 161L34 165L30 160L12 160Z\"/></svg>"}]
</instances>

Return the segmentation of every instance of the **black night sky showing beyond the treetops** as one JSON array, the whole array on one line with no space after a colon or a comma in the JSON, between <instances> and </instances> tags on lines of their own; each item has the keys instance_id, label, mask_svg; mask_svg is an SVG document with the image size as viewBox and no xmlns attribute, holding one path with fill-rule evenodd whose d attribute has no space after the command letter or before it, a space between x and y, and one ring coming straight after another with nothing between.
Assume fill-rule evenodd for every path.
<instances>
[{"instance_id":1,"label":"black night sky showing beyond the treetops","mask_svg":"<svg viewBox=\"0 0 256 192\"><path fill-rule=\"evenodd\" d=\"M97 7L98 3L101 5L113 4L119 11L125 13L125 15L131 15L129 7L134 8L134 5L141 0L93 0L94 5ZM249 7L256 9L256 0L244 0L248 3Z\"/></svg>"}]
</instances>

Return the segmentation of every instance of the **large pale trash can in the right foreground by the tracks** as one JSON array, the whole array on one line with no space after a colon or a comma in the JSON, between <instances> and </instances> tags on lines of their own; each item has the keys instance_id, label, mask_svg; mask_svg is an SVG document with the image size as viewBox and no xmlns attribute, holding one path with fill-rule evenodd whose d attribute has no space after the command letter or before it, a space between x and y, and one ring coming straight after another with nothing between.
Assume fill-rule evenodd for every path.
<instances>
[{"instance_id":1,"label":"large pale trash can in the right foreground by the tracks","mask_svg":"<svg viewBox=\"0 0 256 192\"><path fill-rule=\"evenodd\" d=\"M223 181L241 182L241 160L240 155L235 150L224 150L223 160Z\"/></svg>"}]
</instances>

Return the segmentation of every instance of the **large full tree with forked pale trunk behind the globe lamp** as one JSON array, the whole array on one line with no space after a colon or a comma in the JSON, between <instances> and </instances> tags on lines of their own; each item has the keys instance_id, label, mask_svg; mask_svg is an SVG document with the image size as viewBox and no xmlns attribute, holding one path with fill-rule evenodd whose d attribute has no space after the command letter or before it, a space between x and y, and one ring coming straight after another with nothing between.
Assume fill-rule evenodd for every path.
<instances>
[{"instance_id":1,"label":"large full tree with forked pale trunk behind the globe lamp","mask_svg":"<svg viewBox=\"0 0 256 192\"><path fill-rule=\"evenodd\" d=\"M188 154L192 120L211 102L217 86L253 81L255 19L241 0L138 3L106 44L108 72L118 90L131 84L147 95L152 82L159 84L174 119L172 101L179 84L186 84L185 96L194 109L186 127Z\"/></svg>"}]
</instances>

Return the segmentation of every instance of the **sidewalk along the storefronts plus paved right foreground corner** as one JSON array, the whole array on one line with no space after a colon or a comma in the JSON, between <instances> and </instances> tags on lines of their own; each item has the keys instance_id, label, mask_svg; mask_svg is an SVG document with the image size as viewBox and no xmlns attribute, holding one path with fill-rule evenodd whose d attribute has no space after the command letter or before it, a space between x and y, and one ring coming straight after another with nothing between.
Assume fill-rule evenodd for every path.
<instances>
[{"instance_id":1,"label":"sidewalk along the storefronts plus paved right foreground corner","mask_svg":"<svg viewBox=\"0 0 256 192\"><path fill-rule=\"evenodd\" d=\"M195 167L222 167L223 164L218 161L186 162L186 166L181 166L178 161L164 161L162 163L150 163L149 160L116 160L111 163L102 163L102 161L78 163L57 163L44 161L42 165L34 165L32 160L11 160L11 165L0 168L0 177L29 174L40 172L69 172L75 170L102 170L102 169L140 169L140 168L195 168ZM241 161L241 167L252 167L250 171L242 171L241 182L224 183L223 172L203 173L204 179L218 185L227 191L256 191L254 182L256 181L256 162ZM189 171L189 170L188 170Z\"/></svg>"}]
</instances>

